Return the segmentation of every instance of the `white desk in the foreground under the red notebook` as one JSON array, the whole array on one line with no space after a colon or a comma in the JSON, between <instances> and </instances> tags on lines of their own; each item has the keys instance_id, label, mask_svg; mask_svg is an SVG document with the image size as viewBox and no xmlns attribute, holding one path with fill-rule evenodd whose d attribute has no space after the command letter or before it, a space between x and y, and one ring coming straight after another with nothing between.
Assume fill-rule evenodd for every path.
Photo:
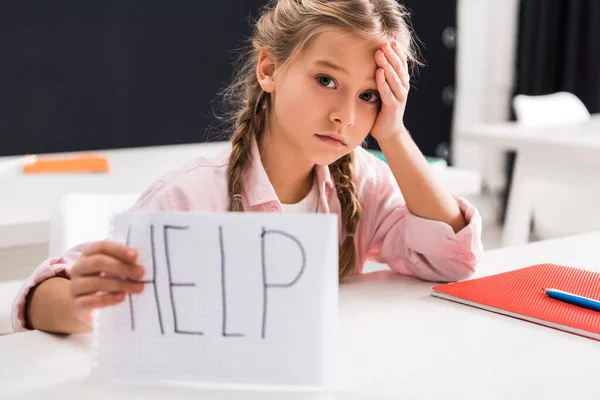
<instances>
[{"instance_id":1,"label":"white desk in the foreground under the red notebook","mask_svg":"<svg viewBox=\"0 0 600 400\"><path fill-rule=\"evenodd\" d=\"M600 232L493 250L477 276L542 262L600 271L598 243ZM597 341L433 298L430 287L388 271L341 287L342 390L330 396L94 383L86 379L88 336L40 332L0 337L0 393L12 400L600 398Z\"/></svg>"}]
</instances>

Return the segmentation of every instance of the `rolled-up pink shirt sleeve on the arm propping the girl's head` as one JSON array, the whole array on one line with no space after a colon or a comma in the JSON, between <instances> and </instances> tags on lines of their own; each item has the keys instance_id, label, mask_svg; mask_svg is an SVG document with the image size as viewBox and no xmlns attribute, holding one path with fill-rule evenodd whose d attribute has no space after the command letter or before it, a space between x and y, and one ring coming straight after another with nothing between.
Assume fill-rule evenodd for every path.
<instances>
[{"instance_id":1,"label":"rolled-up pink shirt sleeve on the arm propping the girl's head","mask_svg":"<svg viewBox=\"0 0 600 400\"><path fill-rule=\"evenodd\" d=\"M370 190L374 228L368 258L428 281L452 282L472 275L483 254L477 209L454 196L467 222L455 233L445 222L412 214L389 167L381 163L377 169Z\"/></svg>"}]
</instances>

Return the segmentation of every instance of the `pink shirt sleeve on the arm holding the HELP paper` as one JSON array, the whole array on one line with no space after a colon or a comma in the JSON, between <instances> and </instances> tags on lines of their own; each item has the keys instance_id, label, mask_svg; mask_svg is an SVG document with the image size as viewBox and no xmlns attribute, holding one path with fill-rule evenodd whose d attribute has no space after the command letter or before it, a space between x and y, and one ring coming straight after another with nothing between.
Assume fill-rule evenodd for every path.
<instances>
[{"instance_id":1,"label":"pink shirt sleeve on the arm holding the HELP paper","mask_svg":"<svg viewBox=\"0 0 600 400\"><path fill-rule=\"evenodd\" d=\"M170 194L165 184L158 181L150 186L131 207L132 211L170 211ZM70 279L71 268L90 243L79 244L63 254L50 257L42 262L27 278L15 297L12 305L11 322L14 332L31 329L27 321L27 302L33 289L46 279L62 277Z\"/></svg>"}]
</instances>

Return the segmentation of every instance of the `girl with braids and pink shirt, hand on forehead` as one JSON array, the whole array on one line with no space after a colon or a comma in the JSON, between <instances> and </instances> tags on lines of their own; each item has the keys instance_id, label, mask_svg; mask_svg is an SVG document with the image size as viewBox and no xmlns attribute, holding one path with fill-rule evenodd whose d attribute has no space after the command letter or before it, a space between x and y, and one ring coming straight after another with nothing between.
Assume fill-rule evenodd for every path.
<instances>
[{"instance_id":1,"label":"girl with braids and pink shirt, hand on forehead","mask_svg":"<svg viewBox=\"0 0 600 400\"><path fill-rule=\"evenodd\" d=\"M133 210L336 213L340 278L367 260L468 277L479 214L436 180L403 124L415 61L405 18L395 0L271 2L225 93L237 102L231 150L166 175ZM360 147L369 133L389 166ZM89 331L92 310L142 291L136 257L103 241L46 260L15 300L15 330Z\"/></svg>"}]
</instances>

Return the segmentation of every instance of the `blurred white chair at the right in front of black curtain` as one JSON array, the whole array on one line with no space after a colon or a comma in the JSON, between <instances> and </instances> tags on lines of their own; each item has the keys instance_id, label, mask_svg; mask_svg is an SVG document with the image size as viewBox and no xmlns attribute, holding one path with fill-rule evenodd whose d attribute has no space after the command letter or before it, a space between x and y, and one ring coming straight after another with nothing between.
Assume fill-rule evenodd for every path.
<instances>
[{"instance_id":1,"label":"blurred white chair at the right in front of black curtain","mask_svg":"<svg viewBox=\"0 0 600 400\"><path fill-rule=\"evenodd\" d=\"M583 102L568 92L543 96L517 95L513 106L517 121L522 126L560 127L591 120ZM600 131L597 134L600 135ZM537 182L536 187L532 230L537 238L551 239L600 230L600 189L543 181Z\"/></svg>"}]
</instances>

